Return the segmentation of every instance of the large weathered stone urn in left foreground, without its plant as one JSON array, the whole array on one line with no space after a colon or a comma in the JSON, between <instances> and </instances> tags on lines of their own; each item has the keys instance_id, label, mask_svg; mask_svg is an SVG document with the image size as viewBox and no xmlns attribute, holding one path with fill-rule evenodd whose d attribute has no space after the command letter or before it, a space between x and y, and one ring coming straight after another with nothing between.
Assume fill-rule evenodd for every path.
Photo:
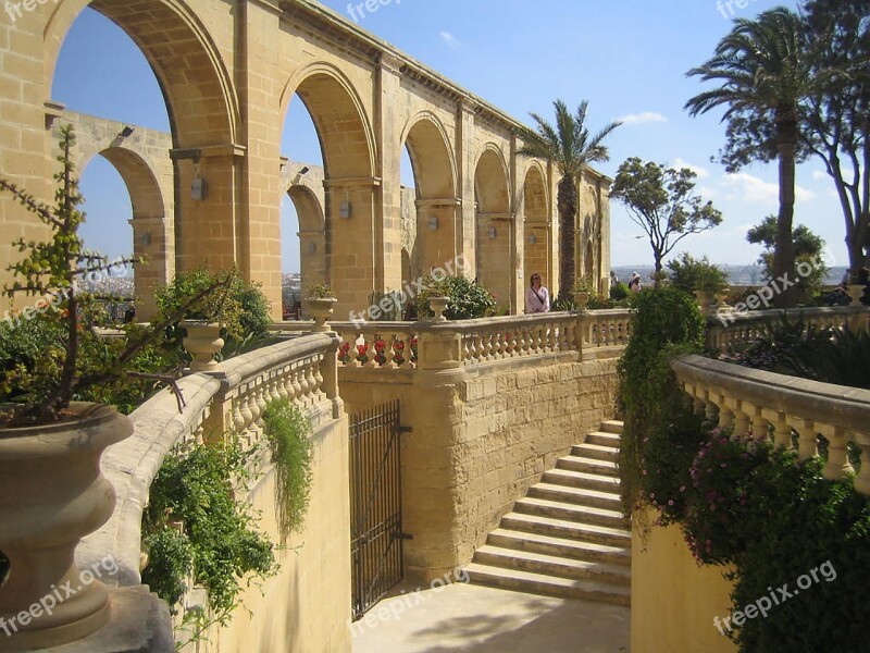
<instances>
[{"instance_id":1,"label":"large weathered stone urn in left foreground, without its plant","mask_svg":"<svg viewBox=\"0 0 870 653\"><path fill-rule=\"evenodd\" d=\"M0 428L0 651L58 646L101 628L109 592L74 562L79 540L111 517L100 456L133 433L113 407L73 403L71 421ZM14 624L14 628L9 626Z\"/></svg>"}]
</instances>

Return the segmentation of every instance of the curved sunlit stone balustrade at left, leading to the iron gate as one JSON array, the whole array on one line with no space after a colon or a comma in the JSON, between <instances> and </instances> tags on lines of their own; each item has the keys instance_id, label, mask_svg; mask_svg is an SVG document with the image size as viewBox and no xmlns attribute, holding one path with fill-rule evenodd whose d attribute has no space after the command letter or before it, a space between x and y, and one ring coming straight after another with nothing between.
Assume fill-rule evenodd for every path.
<instances>
[{"instance_id":1,"label":"curved sunlit stone balustrade at left, leading to the iron gate","mask_svg":"<svg viewBox=\"0 0 870 653\"><path fill-rule=\"evenodd\" d=\"M151 483L175 446L208 443L229 431L253 443L262 435L263 408L276 398L288 398L302 408L315 430L344 419L336 370L338 344L334 334L326 333L285 340L222 362L212 372L181 379L181 409L169 390L136 409L130 415L134 434L103 454L101 468L117 501L110 520L79 544L76 562L80 567L110 556L117 562L117 571L103 576L103 582L122 592L140 586L142 512ZM172 642L173 621L165 606L154 607L147 591L121 595L125 614L141 613L153 641Z\"/></svg>"}]
</instances>

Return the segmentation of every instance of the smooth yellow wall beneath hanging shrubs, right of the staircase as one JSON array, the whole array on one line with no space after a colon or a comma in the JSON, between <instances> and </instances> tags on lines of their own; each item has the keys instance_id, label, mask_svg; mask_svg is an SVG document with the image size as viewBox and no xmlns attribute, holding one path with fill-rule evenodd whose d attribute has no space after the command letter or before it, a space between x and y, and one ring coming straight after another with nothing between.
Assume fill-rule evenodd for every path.
<instances>
[{"instance_id":1,"label":"smooth yellow wall beneath hanging shrubs, right of the staircase","mask_svg":"<svg viewBox=\"0 0 870 653\"><path fill-rule=\"evenodd\" d=\"M649 512L634 519L632 651L734 653L737 648L713 623L731 616L726 568L698 567L678 526L654 527L642 538L638 521L655 518Z\"/></svg>"}]
</instances>

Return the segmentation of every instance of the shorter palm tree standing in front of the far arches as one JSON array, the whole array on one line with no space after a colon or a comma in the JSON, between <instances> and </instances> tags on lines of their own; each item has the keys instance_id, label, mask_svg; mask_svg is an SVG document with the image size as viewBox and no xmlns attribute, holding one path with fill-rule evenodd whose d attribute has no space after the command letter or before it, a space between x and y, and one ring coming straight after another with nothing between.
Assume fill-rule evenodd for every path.
<instances>
[{"instance_id":1,"label":"shorter palm tree standing in front of the far arches","mask_svg":"<svg viewBox=\"0 0 870 653\"><path fill-rule=\"evenodd\" d=\"M583 169L596 161L607 161L610 155L604 145L608 134L621 123L612 122L595 136L586 128L588 102L583 100L575 115L562 100L556 100L556 126L537 113L530 115L537 128L522 127L519 137L520 155L554 163L562 178L559 181L559 300L570 299L574 292L574 229L577 213L577 180Z\"/></svg>"}]
</instances>

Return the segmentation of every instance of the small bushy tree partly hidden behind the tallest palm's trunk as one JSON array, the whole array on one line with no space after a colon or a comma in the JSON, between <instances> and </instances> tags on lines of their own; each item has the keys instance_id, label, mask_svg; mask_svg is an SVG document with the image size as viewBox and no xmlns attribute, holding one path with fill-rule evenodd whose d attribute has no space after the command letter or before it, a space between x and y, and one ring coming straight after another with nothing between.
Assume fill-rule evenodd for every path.
<instances>
[{"instance_id":1,"label":"small bushy tree partly hidden behind the tallest palm's trunk","mask_svg":"<svg viewBox=\"0 0 870 653\"><path fill-rule=\"evenodd\" d=\"M762 245L765 250L758 262L765 268L765 280L774 280L773 250L776 242L776 217L768 215L746 233L746 239L754 245ZM805 224L798 224L792 231L795 246L795 261L798 274L790 281L796 281L798 301L809 301L819 293L822 281L828 275L828 267L822 261L824 239L812 233Z\"/></svg>"}]
</instances>

